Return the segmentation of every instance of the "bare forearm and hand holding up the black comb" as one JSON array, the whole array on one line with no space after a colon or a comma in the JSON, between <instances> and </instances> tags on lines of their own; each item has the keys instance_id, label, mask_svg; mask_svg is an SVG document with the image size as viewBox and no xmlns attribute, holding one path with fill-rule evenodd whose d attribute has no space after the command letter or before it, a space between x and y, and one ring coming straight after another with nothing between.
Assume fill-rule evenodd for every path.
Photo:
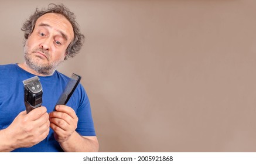
<instances>
[{"instance_id":1,"label":"bare forearm and hand holding up the black comb","mask_svg":"<svg viewBox=\"0 0 256 164\"><path fill-rule=\"evenodd\" d=\"M76 132L78 118L74 110L66 105L57 105L50 113L50 127L54 138L65 152L98 152L96 136L81 136Z\"/></svg>"}]
</instances>

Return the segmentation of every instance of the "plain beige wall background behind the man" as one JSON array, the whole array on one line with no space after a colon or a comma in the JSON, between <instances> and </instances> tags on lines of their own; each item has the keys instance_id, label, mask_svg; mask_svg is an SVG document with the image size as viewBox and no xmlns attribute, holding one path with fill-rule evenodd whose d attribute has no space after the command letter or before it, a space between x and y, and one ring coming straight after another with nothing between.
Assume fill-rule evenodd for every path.
<instances>
[{"instance_id":1,"label":"plain beige wall background behind the man","mask_svg":"<svg viewBox=\"0 0 256 164\"><path fill-rule=\"evenodd\" d=\"M256 1L1 1L0 64L49 2L86 35L59 70L82 76L100 152L256 151Z\"/></svg>"}]
</instances>

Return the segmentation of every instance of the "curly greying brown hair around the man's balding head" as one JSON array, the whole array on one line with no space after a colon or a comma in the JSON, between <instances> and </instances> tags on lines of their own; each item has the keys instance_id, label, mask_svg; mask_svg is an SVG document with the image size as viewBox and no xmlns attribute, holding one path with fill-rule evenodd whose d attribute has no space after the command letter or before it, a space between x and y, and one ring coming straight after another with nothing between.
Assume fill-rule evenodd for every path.
<instances>
[{"instance_id":1,"label":"curly greying brown hair around the man's balding head","mask_svg":"<svg viewBox=\"0 0 256 164\"><path fill-rule=\"evenodd\" d=\"M39 10L36 8L35 13L30 15L29 19L23 23L23 26L21 30L24 32L25 42L29 37L29 34L33 32L36 24L36 20L46 13L59 13L63 15L69 22L71 23L73 27L74 32L74 39L71 41L70 45L67 47L64 60L67 60L68 57L74 57L76 54L80 51L81 47L84 43L84 35L80 32L80 26L76 22L76 16L73 12L71 12L66 6L63 4L56 5L56 4L49 4L48 8L43 8L42 10Z\"/></svg>"}]
</instances>

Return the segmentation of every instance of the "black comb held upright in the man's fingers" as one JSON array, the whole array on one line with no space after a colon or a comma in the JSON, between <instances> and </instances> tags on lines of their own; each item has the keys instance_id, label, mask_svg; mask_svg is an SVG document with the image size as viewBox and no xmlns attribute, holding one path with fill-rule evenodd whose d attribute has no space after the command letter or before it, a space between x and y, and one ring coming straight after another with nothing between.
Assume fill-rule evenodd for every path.
<instances>
[{"instance_id":1,"label":"black comb held upright in the man's fingers","mask_svg":"<svg viewBox=\"0 0 256 164\"><path fill-rule=\"evenodd\" d=\"M76 90L76 87L79 84L80 80L81 80L81 76L74 73L71 75L70 80L67 83L67 86L65 87L63 93L60 95L56 105L67 104L67 101L69 101L69 98L74 93L74 90ZM53 109L53 111L55 111L55 108Z\"/></svg>"}]
</instances>

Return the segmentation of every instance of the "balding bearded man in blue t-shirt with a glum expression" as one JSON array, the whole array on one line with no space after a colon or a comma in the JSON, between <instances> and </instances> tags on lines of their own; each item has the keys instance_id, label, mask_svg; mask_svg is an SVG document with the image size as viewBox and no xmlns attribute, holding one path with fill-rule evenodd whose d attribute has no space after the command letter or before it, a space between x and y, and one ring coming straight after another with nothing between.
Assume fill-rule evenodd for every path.
<instances>
[{"instance_id":1,"label":"balding bearded man in blue t-shirt with a glum expression","mask_svg":"<svg viewBox=\"0 0 256 164\"><path fill-rule=\"evenodd\" d=\"M24 23L24 58L0 66L1 152L97 152L90 102L81 84L66 105L56 105L69 77L56 67L79 52L84 36L64 5L36 9ZM23 80L38 76L42 106L25 111ZM55 108L55 111L53 109Z\"/></svg>"}]
</instances>

